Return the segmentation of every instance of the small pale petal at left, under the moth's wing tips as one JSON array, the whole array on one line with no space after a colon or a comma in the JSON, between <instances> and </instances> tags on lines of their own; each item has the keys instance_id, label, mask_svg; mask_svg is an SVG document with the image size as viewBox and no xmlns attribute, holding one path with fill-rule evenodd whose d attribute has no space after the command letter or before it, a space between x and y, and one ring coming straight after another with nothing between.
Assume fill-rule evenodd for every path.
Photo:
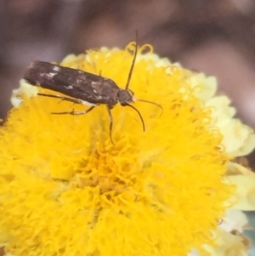
<instances>
[{"instance_id":1,"label":"small pale petal at left, under the moth's wing tips","mask_svg":"<svg viewBox=\"0 0 255 256\"><path fill-rule=\"evenodd\" d=\"M38 89L36 86L33 86L26 82L26 80L20 80L20 88L14 89L11 95L11 103L14 106L19 106L22 103L22 94L26 94L28 98L36 96Z\"/></svg>"}]
</instances>

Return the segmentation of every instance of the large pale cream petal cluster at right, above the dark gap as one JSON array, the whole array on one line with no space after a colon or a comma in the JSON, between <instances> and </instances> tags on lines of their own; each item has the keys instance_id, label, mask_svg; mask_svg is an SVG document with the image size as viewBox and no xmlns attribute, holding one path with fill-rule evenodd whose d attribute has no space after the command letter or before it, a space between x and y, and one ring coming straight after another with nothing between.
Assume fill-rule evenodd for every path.
<instances>
[{"instance_id":1,"label":"large pale cream petal cluster at right, above the dark gap","mask_svg":"<svg viewBox=\"0 0 255 256\"><path fill-rule=\"evenodd\" d=\"M223 145L230 156L245 156L255 147L255 134L252 128L241 123L235 115L235 108L229 106L227 96L213 97L206 105L212 107L215 125L223 134Z\"/></svg>"}]
</instances>

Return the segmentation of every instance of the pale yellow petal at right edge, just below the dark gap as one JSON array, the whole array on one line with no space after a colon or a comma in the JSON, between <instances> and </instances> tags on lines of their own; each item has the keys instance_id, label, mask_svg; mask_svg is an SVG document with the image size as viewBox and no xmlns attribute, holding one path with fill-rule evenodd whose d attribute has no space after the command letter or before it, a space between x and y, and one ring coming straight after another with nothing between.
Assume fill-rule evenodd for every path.
<instances>
[{"instance_id":1,"label":"pale yellow petal at right edge, just below the dark gap","mask_svg":"<svg viewBox=\"0 0 255 256\"><path fill-rule=\"evenodd\" d=\"M243 211L255 210L255 174L241 165L230 162L227 170L229 181L236 185L235 204L232 208Z\"/></svg>"}]
</instances>

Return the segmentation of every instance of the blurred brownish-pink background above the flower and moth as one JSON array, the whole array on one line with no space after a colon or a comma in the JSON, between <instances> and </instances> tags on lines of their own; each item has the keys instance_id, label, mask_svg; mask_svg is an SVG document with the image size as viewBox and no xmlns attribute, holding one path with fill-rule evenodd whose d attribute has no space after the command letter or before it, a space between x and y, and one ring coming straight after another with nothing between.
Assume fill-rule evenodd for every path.
<instances>
[{"instance_id":1,"label":"blurred brownish-pink background above the flower and moth","mask_svg":"<svg viewBox=\"0 0 255 256\"><path fill-rule=\"evenodd\" d=\"M139 44L218 77L219 93L255 127L254 0L0 0L0 118L32 60L122 48L136 29ZM253 167L254 159L249 156Z\"/></svg>"}]
</instances>

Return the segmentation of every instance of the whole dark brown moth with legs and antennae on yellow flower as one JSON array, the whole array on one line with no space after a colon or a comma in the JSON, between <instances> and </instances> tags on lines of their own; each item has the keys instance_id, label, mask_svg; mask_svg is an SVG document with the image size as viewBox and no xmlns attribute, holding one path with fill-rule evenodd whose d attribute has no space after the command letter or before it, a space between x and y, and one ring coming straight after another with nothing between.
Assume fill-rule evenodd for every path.
<instances>
[{"instance_id":1,"label":"whole dark brown moth with legs and antennae on yellow flower","mask_svg":"<svg viewBox=\"0 0 255 256\"><path fill-rule=\"evenodd\" d=\"M84 115L92 111L98 105L106 105L110 118L110 138L112 144L112 126L113 117L111 110L117 105L128 106L136 111L145 131L144 119L139 110L131 105L135 101L147 102L161 108L161 105L150 100L141 100L134 97L130 90L129 83L133 74L133 67L138 53L138 36L136 34L136 46L133 53L133 61L128 73L126 87L119 88L116 82L107 77L94 75L92 73L72 69L48 62L36 60L26 69L24 79L31 85L47 88L54 92L65 94L66 96L56 94L37 94L45 97L57 98L59 100L70 101L74 104L88 105L85 111L65 111L53 112L55 115Z\"/></svg>"}]
</instances>

